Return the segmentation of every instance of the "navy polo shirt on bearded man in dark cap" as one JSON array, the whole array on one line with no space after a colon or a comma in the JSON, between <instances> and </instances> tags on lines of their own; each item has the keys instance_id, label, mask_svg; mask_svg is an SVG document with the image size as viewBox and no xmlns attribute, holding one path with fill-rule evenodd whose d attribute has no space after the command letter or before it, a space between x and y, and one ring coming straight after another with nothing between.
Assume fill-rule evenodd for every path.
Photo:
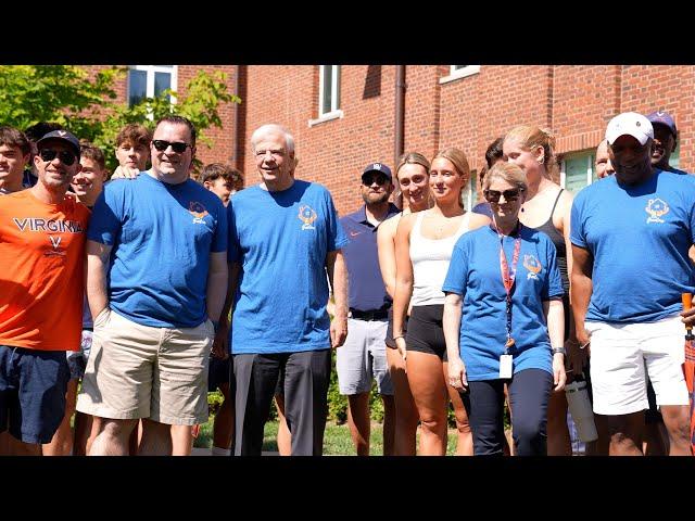
<instances>
[{"instance_id":1,"label":"navy polo shirt on bearded man in dark cap","mask_svg":"<svg viewBox=\"0 0 695 521\"><path fill-rule=\"evenodd\" d=\"M393 203L389 203L386 219L400 212ZM354 214L341 218L340 224L350 239L350 243L343 247L348 264L350 307L368 312L390 306L391 297L387 293L379 269L377 252L379 227L375 227L367 220L367 206L363 205Z\"/></svg>"}]
</instances>

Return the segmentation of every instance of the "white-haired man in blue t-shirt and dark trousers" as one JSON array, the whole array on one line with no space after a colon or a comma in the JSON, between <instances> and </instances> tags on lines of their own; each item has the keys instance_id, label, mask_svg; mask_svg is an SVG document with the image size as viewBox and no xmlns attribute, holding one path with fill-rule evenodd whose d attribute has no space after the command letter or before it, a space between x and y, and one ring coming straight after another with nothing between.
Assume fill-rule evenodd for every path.
<instances>
[{"instance_id":1,"label":"white-haired man in blue t-shirt and dark trousers","mask_svg":"<svg viewBox=\"0 0 695 521\"><path fill-rule=\"evenodd\" d=\"M348 239L330 193L294 179L294 139L279 125L251 136L261 183L236 193L229 217L230 284L215 351L233 304L235 455L261 455L278 376L293 456L319 456L328 410L331 346L345 341ZM328 280L336 301L326 312ZM222 345L220 345L222 344Z\"/></svg>"}]
</instances>

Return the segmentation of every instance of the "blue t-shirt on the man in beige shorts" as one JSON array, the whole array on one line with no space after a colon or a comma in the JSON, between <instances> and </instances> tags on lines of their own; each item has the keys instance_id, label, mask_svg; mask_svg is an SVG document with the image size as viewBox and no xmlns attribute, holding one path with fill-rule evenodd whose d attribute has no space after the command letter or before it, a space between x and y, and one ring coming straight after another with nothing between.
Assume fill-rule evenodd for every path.
<instances>
[{"instance_id":1,"label":"blue t-shirt on the man in beige shorts","mask_svg":"<svg viewBox=\"0 0 695 521\"><path fill-rule=\"evenodd\" d=\"M113 246L109 305L118 315L154 328L207 319L210 254L227 250L227 214L213 192L192 179L116 179L94 204L87 239Z\"/></svg>"}]
</instances>

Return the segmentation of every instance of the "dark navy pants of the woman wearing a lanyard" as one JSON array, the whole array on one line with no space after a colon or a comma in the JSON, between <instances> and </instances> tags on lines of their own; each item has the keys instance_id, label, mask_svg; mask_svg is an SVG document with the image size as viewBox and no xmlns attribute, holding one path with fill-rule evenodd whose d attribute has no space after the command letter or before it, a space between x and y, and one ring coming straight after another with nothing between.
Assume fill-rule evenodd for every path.
<instances>
[{"instance_id":1,"label":"dark navy pants of the woman wearing a lanyard","mask_svg":"<svg viewBox=\"0 0 695 521\"><path fill-rule=\"evenodd\" d=\"M468 382L465 403L476 456L502 456L504 445L505 380ZM511 430L519 456L547 455L547 402L553 377L541 369L517 372L509 381Z\"/></svg>"}]
</instances>

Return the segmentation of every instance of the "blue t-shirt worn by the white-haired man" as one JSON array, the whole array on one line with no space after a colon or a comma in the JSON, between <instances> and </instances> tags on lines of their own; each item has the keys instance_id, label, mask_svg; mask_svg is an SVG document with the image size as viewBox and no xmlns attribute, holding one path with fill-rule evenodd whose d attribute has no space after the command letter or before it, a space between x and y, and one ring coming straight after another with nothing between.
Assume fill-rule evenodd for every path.
<instances>
[{"instance_id":1,"label":"blue t-shirt worn by the white-haired man","mask_svg":"<svg viewBox=\"0 0 695 521\"><path fill-rule=\"evenodd\" d=\"M326 255L348 244L326 188L295 180L260 186L227 206L230 263L241 265L231 352L294 353L330 348Z\"/></svg>"}]
</instances>

